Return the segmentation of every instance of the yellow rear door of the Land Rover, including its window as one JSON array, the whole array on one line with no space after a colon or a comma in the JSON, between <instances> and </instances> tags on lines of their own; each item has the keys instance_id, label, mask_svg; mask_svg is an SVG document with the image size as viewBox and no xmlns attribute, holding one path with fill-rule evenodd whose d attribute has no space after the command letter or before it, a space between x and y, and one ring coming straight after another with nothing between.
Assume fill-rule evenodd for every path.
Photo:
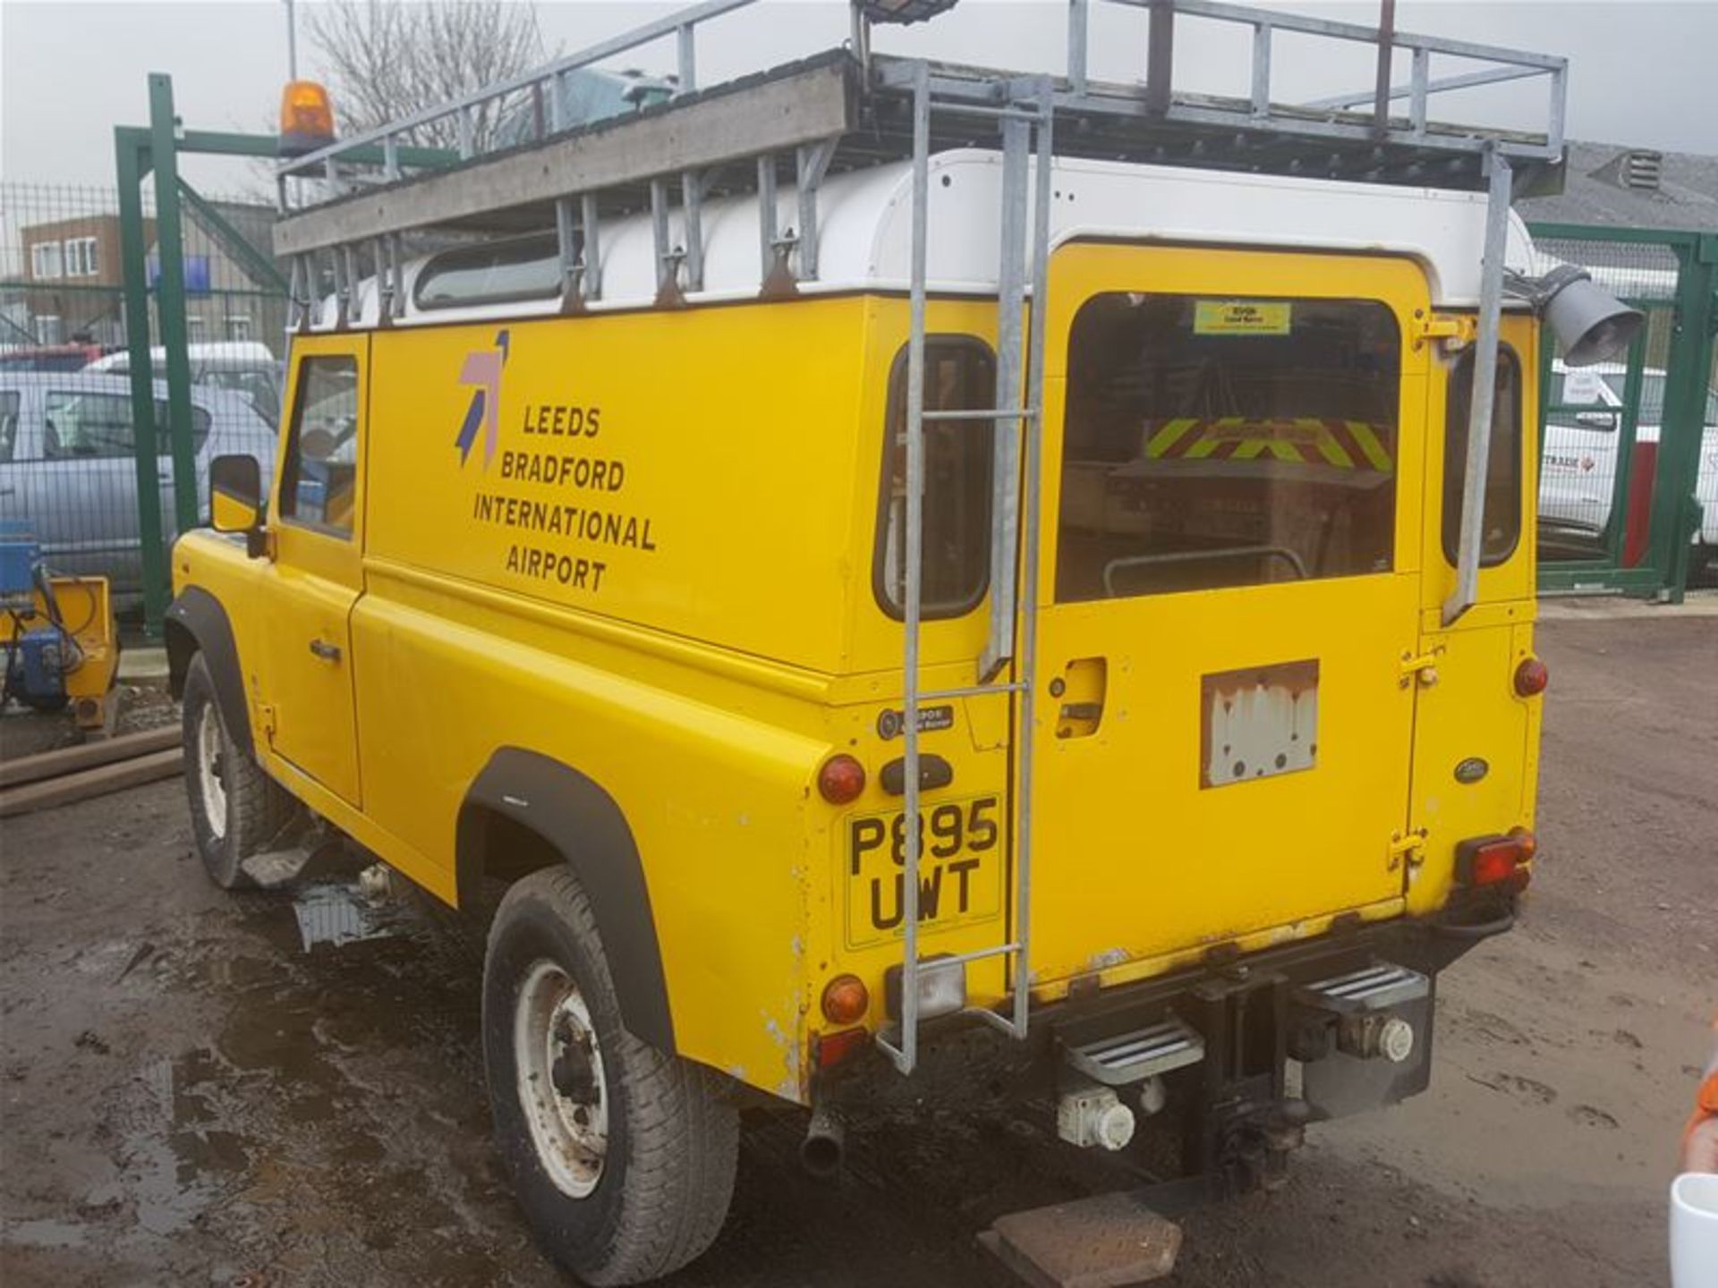
<instances>
[{"instance_id":1,"label":"yellow rear door of the Land Rover, including its window","mask_svg":"<svg viewBox=\"0 0 1718 1288\"><path fill-rule=\"evenodd\" d=\"M1426 309L1402 259L1057 252L1039 979L1400 908Z\"/></svg>"}]
</instances>

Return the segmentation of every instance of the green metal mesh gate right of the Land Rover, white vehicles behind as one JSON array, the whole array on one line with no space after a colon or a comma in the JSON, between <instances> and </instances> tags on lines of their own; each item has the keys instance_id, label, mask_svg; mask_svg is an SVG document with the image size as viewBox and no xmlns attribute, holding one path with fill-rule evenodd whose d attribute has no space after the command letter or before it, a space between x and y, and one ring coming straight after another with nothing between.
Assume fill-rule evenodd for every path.
<instances>
[{"instance_id":1,"label":"green metal mesh gate right of the Land Rover, white vehicles behind","mask_svg":"<svg viewBox=\"0 0 1718 1288\"><path fill-rule=\"evenodd\" d=\"M1539 591L1680 601L1718 550L1718 234L1531 225L1557 263L1646 313L1627 354L1541 354Z\"/></svg>"}]
</instances>

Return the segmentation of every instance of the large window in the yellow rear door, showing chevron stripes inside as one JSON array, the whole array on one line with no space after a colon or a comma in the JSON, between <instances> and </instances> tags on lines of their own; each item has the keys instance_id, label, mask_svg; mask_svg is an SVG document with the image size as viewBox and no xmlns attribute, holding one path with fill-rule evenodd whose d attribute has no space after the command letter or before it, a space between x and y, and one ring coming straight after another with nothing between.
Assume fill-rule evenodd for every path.
<instances>
[{"instance_id":1,"label":"large window in the yellow rear door, showing chevron stripes inside","mask_svg":"<svg viewBox=\"0 0 1718 1288\"><path fill-rule=\"evenodd\" d=\"M1388 572L1400 364L1376 301L1094 295L1069 338L1057 599Z\"/></svg>"}]
</instances>

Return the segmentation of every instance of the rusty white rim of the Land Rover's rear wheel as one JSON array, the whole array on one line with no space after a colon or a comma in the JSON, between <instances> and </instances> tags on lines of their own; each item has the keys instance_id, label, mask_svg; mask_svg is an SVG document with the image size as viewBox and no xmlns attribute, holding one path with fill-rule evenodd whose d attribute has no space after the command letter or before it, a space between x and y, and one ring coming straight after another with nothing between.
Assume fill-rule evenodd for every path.
<instances>
[{"instance_id":1,"label":"rusty white rim of the Land Rover's rear wheel","mask_svg":"<svg viewBox=\"0 0 1718 1288\"><path fill-rule=\"evenodd\" d=\"M584 1199L608 1157L608 1084L591 1008L555 962L536 962L519 986L514 1068L538 1163L555 1188Z\"/></svg>"}]
</instances>

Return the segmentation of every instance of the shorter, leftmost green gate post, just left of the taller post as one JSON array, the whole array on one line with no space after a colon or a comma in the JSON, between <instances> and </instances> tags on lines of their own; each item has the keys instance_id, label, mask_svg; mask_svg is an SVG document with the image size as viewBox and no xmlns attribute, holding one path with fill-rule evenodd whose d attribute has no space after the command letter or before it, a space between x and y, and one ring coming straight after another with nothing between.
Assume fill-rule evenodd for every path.
<instances>
[{"instance_id":1,"label":"shorter, leftmost green gate post, just left of the taller post","mask_svg":"<svg viewBox=\"0 0 1718 1288\"><path fill-rule=\"evenodd\" d=\"M155 369L149 362L149 251L143 227L143 177L149 170L146 131L113 131L113 168L119 179L120 271L125 289L125 352L131 361L132 450L137 464L137 553L143 562L143 632L161 637L170 574L161 538L161 476L155 450Z\"/></svg>"}]
</instances>

